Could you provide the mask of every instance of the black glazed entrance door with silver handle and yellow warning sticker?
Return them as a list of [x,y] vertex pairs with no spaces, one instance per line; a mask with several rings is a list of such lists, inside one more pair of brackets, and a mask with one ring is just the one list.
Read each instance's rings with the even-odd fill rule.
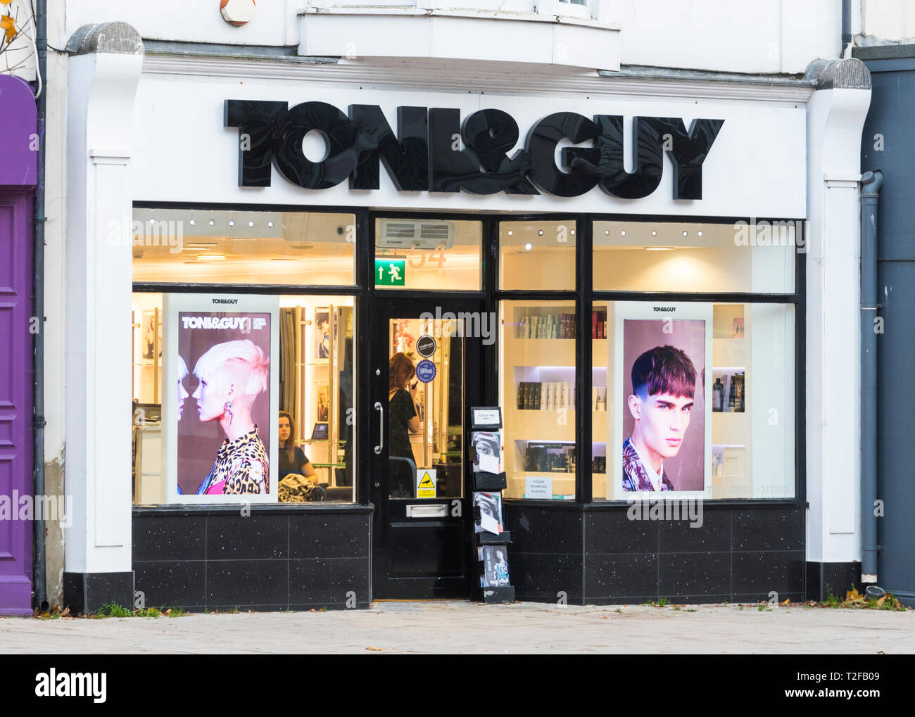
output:
[[376,598],[469,598],[467,429],[482,304],[376,297],[371,501]]

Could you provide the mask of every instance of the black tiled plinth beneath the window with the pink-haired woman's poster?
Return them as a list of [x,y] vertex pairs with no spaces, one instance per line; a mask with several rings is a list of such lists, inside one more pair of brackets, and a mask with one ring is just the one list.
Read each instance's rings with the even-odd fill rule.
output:
[[371,507],[134,511],[147,607],[308,610],[371,605]]

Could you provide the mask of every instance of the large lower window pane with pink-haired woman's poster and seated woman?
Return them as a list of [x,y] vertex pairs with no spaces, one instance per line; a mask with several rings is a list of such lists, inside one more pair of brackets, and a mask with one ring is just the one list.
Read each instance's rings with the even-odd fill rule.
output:
[[354,299],[133,294],[136,504],[352,502]]

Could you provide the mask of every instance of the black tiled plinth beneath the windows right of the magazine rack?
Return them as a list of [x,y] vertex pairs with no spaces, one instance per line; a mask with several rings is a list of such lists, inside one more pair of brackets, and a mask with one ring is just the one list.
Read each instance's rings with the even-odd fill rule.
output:
[[[705,501],[701,525],[632,519],[625,504],[569,508],[505,502],[518,599],[555,602],[563,589],[579,605],[783,602],[806,593],[800,506]],[[572,584],[579,587],[563,587]]]

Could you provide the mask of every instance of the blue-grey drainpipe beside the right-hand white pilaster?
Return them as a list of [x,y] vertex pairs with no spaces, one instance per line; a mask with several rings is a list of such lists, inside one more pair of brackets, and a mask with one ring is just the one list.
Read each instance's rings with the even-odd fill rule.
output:
[[877,205],[883,172],[861,177],[861,582],[877,583]]

